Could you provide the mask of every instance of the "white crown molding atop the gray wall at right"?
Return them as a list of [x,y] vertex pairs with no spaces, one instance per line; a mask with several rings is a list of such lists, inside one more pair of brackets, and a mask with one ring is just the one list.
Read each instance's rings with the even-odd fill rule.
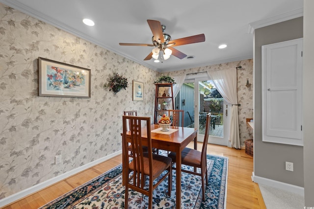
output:
[[265,27],[271,24],[276,24],[276,23],[281,23],[284,21],[288,21],[294,18],[299,18],[303,16],[303,7],[300,9],[295,9],[290,12],[286,12],[271,18],[267,18],[261,21],[256,21],[253,23],[249,23],[248,28],[247,28],[247,33],[253,34],[255,29]]

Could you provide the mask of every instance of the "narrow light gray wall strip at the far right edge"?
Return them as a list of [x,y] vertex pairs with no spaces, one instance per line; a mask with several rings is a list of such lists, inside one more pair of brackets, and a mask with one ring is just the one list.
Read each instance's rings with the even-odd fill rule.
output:
[[304,0],[304,57],[303,57],[303,139],[304,139],[304,199],[305,206],[314,206],[314,1]]

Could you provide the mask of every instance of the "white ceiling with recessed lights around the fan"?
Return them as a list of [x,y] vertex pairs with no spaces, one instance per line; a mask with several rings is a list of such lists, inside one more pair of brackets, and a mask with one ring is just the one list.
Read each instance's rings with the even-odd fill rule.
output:
[[[253,58],[253,31],[303,16],[303,0],[0,0],[0,2],[159,72]],[[95,26],[82,23],[92,19]],[[171,56],[143,61],[152,44],[147,20],[166,25],[172,40],[205,34],[205,42],[176,49],[194,59]],[[218,45],[227,44],[225,49]]]

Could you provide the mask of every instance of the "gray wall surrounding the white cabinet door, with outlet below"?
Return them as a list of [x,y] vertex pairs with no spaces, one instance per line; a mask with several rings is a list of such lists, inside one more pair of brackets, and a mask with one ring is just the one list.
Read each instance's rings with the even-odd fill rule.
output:
[[[303,17],[262,27],[254,35],[254,173],[256,176],[304,186],[303,147],[262,142],[262,45],[303,37]],[[292,162],[294,171],[285,170]]]

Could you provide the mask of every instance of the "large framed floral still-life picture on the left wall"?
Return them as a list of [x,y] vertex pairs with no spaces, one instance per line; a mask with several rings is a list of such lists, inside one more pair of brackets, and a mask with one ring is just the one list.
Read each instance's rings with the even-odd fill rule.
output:
[[90,98],[90,69],[38,57],[38,95]]

